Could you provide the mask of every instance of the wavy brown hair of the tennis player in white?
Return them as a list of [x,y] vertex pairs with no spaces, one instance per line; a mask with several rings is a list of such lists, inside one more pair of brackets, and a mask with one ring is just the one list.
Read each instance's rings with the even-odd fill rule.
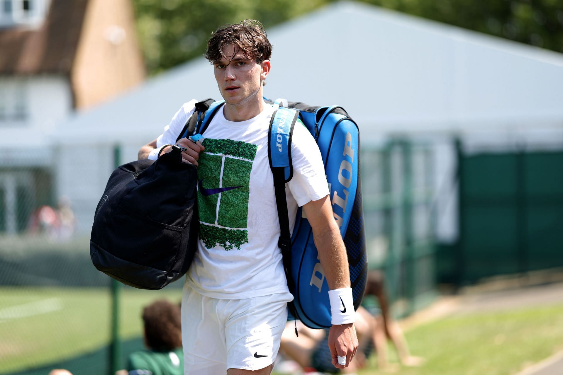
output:
[[223,49],[227,44],[235,46],[235,56],[239,51],[243,51],[244,56],[250,60],[256,60],[258,64],[264,60],[270,60],[272,55],[272,45],[267,38],[266,30],[259,21],[244,20],[239,24],[225,25],[213,32],[212,37],[207,42],[207,51],[204,57],[214,64],[225,57]]

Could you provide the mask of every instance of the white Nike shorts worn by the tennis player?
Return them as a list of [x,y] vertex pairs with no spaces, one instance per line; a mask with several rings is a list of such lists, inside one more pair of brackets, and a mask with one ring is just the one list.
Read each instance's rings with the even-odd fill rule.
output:
[[258,370],[274,363],[291,300],[291,293],[222,300],[202,296],[185,284],[184,374],[225,374],[229,368]]

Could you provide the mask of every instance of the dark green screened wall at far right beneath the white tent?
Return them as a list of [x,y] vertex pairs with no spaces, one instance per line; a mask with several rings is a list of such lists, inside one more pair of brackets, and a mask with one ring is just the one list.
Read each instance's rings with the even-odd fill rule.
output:
[[439,247],[439,281],[563,266],[563,152],[458,155],[459,241]]

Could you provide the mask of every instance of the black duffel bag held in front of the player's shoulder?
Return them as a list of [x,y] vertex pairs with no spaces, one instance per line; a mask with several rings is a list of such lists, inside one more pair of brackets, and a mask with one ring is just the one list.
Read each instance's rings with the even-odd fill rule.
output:
[[196,184],[196,166],[181,161],[177,146],[157,161],[115,169],[94,216],[92,263],[141,289],[162,289],[182,277],[197,249]]

